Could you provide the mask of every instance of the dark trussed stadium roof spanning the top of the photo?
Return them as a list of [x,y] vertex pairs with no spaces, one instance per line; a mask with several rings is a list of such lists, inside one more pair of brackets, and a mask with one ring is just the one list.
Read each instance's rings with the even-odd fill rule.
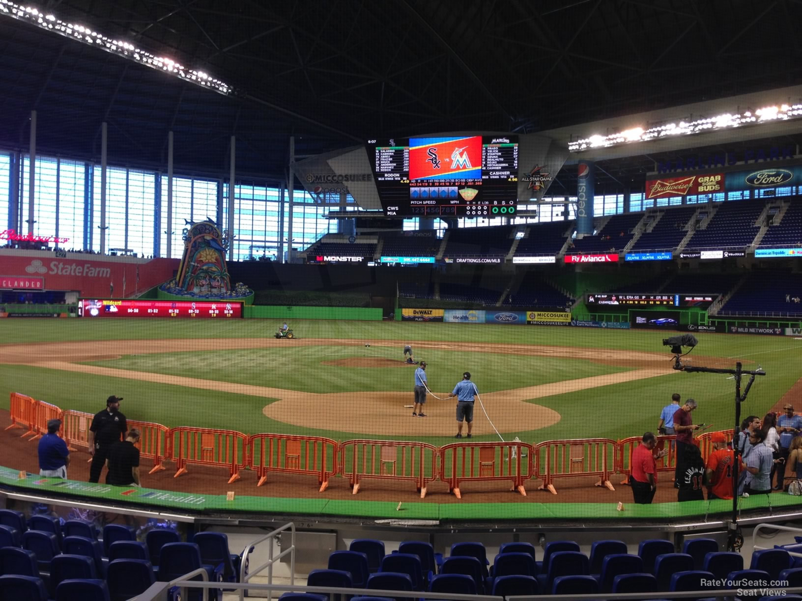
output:
[[[35,108],[40,152],[97,159],[106,120],[110,160],[163,166],[172,129],[184,171],[225,171],[232,134],[238,175],[277,178],[290,135],[310,155],[426,131],[533,133],[802,83],[799,0],[45,0],[38,8],[208,71],[237,93],[0,14],[0,145],[27,147]],[[602,161],[597,192],[638,185],[659,158]],[[569,177],[558,178],[557,193],[575,186]]]

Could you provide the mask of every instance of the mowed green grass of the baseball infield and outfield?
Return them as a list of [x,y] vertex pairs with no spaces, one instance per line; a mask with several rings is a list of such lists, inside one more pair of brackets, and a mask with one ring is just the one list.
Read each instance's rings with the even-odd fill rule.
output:
[[[269,337],[277,323],[262,320],[9,319],[2,321],[2,333],[5,340],[27,342],[186,339],[188,351],[185,353],[123,357],[117,361],[99,362],[97,365],[313,393],[410,390],[411,369],[320,365],[320,361],[366,355],[399,359],[401,349],[383,346],[383,340],[407,341],[413,348],[415,341],[563,345],[596,349],[600,357],[604,357],[608,349],[652,353],[667,350],[661,344],[666,333],[638,330],[361,321],[291,321],[290,325],[300,337],[370,341],[371,348],[293,346],[292,341],[286,341],[286,346],[282,345],[275,350],[222,352],[214,348],[198,349],[193,342],[201,338]],[[802,341],[795,341],[791,337],[725,334],[697,334],[697,337],[699,346],[691,353],[690,357],[695,359],[692,365],[704,365],[703,357],[710,356],[731,357],[734,366],[736,358],[740,357],[745,361],[745,369],[754,369],[759,363],[768,373],[755,382],[742,407],[743,416],[754,413],[762,417],[800,377]],[[124,352],[124,349],[120,350]],[[429,349],[417,349],[415,354],[417,358],[429,361],[429,381],[432,389],[438,391],[450,390],[460,379],[464,369],[474,374],[473,379],[483,392],[626,370],[590,361],[552,357]],[[665,357],[666,361],[669,360],[669,353]],[[350,434],[354,434],[273,422],[261,415],[261,407],[270,402],[263,397],[157,385],[126,378],[88,377],[51,369],[0,365],[0,406],[6,409],[8,393],[11,391],[54,402],[64,409],[90,412],[101,408],[103,399],[108,394],[115,393],[127,398],[123,409],[130,417],[163,423],[165,426],[213,426],[245,433],[280,431],[327,435],[339,439],[350,438]],[[505,438],[517,435],[524,441],[539,442],[560,438],[625,438],[640,435],[645,430],[656,428],[660,409],[667,404],[674,392],[682,394],[683,398],[695,397],[699,401],[699,409],[694,413],[695,422],[712,423],[715,430],[731,427],[735,393],[732,380],[727,380],[721,374],[676,373],[603,386],[581,393],[537,398],[532,402],[555,409],[561,414],[561,421],[541,430],[531,430],[526,423],[521,423],[520,431],[507,433]],[[136,416],[132,412],[134,406]],[[492,411],[492,408],[488,410]],[[476,439],[492,438],[488,435]],[[425,440],[442,444],[448,438],[431,437]]]

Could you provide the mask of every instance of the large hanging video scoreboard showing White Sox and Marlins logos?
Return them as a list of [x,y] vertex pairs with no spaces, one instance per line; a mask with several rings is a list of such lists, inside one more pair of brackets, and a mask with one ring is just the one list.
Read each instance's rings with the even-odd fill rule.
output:
[[518,204],[518,137],[367,141],[387,216],[500,217]]

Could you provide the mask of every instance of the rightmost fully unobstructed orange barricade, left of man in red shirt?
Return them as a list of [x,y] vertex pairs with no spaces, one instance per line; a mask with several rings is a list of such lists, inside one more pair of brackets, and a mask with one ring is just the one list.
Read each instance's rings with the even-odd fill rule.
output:
[[593,476],[596,486],[615,490],[610,474],[616,467],[618,443],[610,438],[577,438],[575,440],[545,441],[535,446],[535,478],[543,481],[537,490],[557,494],[554,480]]

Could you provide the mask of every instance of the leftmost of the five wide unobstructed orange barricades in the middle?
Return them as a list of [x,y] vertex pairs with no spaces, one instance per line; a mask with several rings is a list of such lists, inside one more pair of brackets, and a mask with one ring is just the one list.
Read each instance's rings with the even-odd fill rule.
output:
[[248,462],[248,437],[234,430],[212,430],[210,428],[173,428],[169,433],[172,458],[176,462],[176,474],[187,473],[187,464],[201,466],[226,466],[229,468],[229,484],[240,479],[240,470]]

